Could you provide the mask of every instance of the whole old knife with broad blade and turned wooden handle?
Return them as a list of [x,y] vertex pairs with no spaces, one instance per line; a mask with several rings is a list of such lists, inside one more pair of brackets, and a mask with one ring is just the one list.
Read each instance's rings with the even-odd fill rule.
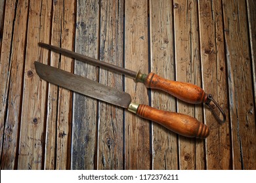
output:
[[35,70],[37,75],[47,82],[112,105],[127,108],[130,112],[147,120],[157,122],[179,135],[200,139],[205,139],[209,135],[209,127],[191,116],[134,103],[131,101],[129,93],[118,91],[88,78],[74,75],[73,73],[68,73],[67,71],[37,61],[35,61]]

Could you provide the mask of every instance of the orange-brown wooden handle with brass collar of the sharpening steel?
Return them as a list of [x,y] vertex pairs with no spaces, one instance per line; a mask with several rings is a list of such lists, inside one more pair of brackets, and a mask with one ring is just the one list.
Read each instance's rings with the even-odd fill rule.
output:
[[136,81],[143,82],[147,88],[163,90],[187,103],[198,104],[207,101],[207,93],[199,86],[186,82],[167,80],[155,73],[146,75],[139,71]]

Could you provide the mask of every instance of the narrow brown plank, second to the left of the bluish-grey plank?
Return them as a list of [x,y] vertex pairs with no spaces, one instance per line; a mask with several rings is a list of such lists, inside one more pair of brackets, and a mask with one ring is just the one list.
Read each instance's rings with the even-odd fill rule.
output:
[[[63,19],[63,3],[64,1],[54,1],[53,3],[53,18],[51,29],[51,44],[54,46],[61,45],[61,24]],[[48,50],[43,50],[48,52]],[[60,61],[60,54],[51,52],[50,65],[58,67]],[[45,169],[56,169],[56,127],[58,118],[58,86],[49,84],[48,99],[47,99],[47,126],[45,138]]]

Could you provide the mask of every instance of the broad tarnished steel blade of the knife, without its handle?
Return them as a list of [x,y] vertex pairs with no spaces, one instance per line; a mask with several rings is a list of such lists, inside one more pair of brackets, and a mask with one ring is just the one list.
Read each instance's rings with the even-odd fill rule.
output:
[[131,95],[125,92],[120,92],[114,88],[105,86],[88,78],[82,76],[74,75],[57,69],[56,67],[51,67],[43,63],[35,61],[35,70],[37,75],[43,80],[51,82],[95,99],[117,105],[119,107],[128,108],[131,103]]

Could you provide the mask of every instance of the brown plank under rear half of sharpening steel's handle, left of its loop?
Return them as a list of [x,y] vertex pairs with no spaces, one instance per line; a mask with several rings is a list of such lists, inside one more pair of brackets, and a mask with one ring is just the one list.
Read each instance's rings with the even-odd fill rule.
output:
[[[175,1],[175,63],[177,80],[201,86],[198,4],[196,1]],[[202,105],[178,100],[178,112],[203,122]],[[204,141],[179,136],[179,168],[205,169]]]

